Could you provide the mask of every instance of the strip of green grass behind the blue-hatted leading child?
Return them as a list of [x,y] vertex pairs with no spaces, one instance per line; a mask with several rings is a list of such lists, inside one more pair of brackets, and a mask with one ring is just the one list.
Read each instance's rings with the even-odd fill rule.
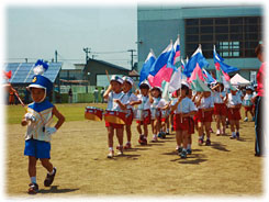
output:
[[[85,108],[87,105],[105,109],[107,104],[88,104],[88,103],[74,103],[74,104],[55,104],[58,111],[66,117],[66,122],[83,121]],[[25,114],[24,108],[21,105],[7,105],[4,106],[7,124],[20,124],[23,115]]]

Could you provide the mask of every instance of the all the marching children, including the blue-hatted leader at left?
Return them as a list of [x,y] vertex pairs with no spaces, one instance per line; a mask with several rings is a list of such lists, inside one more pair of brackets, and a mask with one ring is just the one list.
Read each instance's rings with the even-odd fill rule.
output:
[[[44,68],[47,68],[47,64],[37,60],[35,69]],[[29,176],[31,179],[29,193],[38,191],[36,182],[37,159],[47,170],[44,186],[49,187],[53,183],[56,168],[49,160],[51,138],[65,122],[64,115],[47,99],[47,96],[52,92],[53,83],[42,75],[43,72],[44,70],[36,71],[27,87],[33,102],[27,105],[27,111],[21,122],[22,126],[27,126],[24,155],[29,156]],[[147,145],[148,125],[152,126],[152,141],[157,142],[158,138],[165,138],[169,134],[171,123],[172,131],[176,131],[176,149],[181,158],[186,158],[188,154],[191,154],[191,134],[194,133],[194,128],[199,133],[199,145],[203,144],[204,135],[206,135],[205,145],[211,145],[210,135],[213,114],[216,120],[216,135],[225,134],[225,121],[228,117],[232,131],[231,138],[239,138],[242,98],[237,93],[237,89],[231,89],[231,93],[226,93],[223,85],[217,83],[210,91],[193,94],[189,83],[182,82],[181,88],[171,93],[170,100],[167,101],[161,98],[162,90],[159,87],[150,88],[148,82],[145,81],[139,85],[139,92],[133,93],[133,85],[134,81],[130,77],[112,76],[110,87],[103,94],[103,98],[108,101],[107,110],[126,113],[125,124],[105,122],[109,144],[108,158],[114,156],[114,132],[119,142],[116,147],[119,155],[123,155],[124,149],[132,148],[131,125],[134,119],[136,120],[136,128],[139,134],[138,143],[141,145]],[[246,113],[253,109],[251,93],[248,89],[243,103]],[[253,114],[253,112],[250,113]],[[51,127],[53,116],[56,116],[58,121]],[[125,146],[123,146],[124,128],[127,136]]]

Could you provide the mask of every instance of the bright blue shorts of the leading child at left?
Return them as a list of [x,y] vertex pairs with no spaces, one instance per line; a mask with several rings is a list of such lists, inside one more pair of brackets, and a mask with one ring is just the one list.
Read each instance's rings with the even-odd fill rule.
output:
[[33,156],[35,158],[51,158],[51,143],[37,139],[25,141],[24,148],[25,156]]

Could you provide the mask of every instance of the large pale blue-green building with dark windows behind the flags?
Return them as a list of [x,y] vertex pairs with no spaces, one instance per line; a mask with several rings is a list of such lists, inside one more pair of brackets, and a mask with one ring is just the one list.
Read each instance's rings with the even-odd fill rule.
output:
[[141,70],[149,49],[156,57],[180,34],[182,58],[190,57],[202,45],[203,55],[214,70],[213,45],[227,65],[238,67],[250,79],[260,63],[254,49],[262,38],[261,7],[144,7],[137,8],[137,49]]

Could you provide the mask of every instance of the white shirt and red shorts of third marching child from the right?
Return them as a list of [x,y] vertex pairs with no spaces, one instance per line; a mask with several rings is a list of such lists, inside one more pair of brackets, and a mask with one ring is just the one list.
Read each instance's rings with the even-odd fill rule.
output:
[[227,115],[227,106],[226,104],[223,102],[223,99],[221,98],[221,96],[223,98],[226,97],[226,92],[222,91],[222,92],[213,92],[213,98],[214,98],[214,114],[215,115],[221,115],[221,116],[226,116]]

